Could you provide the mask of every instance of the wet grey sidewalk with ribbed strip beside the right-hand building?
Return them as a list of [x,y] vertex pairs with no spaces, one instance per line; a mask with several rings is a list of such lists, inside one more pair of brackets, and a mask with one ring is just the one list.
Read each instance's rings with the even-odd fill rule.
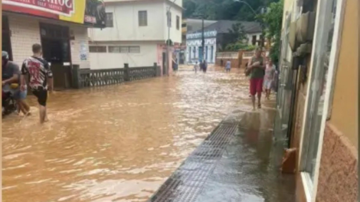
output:
[[279,170],[274,116],[233,110],[149,202],[295,202],[294,176]]

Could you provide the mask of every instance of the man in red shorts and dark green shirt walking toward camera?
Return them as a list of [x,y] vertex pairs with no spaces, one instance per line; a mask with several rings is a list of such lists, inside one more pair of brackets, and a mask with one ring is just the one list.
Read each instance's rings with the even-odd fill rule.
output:
[[253,110],[255,110],[255,95],[257,93],[258,103],[257,107],[261,108],[261,92],[262,92],[262,83],[264,81],[265,75],[265,60],[261,56],[261,49],[257,48],[255,51],[255,56],[249,59],[248,70],[250,72],[250,94]]

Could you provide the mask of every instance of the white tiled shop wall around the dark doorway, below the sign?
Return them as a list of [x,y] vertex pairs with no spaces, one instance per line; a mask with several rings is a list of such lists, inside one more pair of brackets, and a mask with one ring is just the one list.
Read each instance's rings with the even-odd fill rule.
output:
[[[87,28],[71,23],[63,23],[56,20],[45,20],[27,15],[6,14],[9,18],[9,26],[11,32],[11,46],[13,52],[13,60],[19,66],[23,60],[32,55],[31,47],[34,43],[41,43],[40,38],[40,22],[61,24],[68,26],[73,32],[75,40],[70,41],[72,64],[80,65],[80,68],[90,68],[90,55]],[[87,58],[80,59],[81,42],[85,43]]]

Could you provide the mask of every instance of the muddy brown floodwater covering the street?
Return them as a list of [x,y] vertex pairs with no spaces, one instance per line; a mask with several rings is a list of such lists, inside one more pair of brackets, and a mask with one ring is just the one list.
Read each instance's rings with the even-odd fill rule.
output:
[[3,200],[146,201],[235,106],[250,109],[243,70],[57,92],[49,123],[3,119]]

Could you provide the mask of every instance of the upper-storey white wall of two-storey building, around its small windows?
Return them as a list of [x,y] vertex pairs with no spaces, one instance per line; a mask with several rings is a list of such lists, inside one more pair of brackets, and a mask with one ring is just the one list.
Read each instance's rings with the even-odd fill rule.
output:
[[[167,40],[166,8],[163,0],[119,1],[107,3],[106,12],[113,13],[113,27],[89,29],[91,41],[165,41]],[[147,11],[147,26],[139,26],[138,12]],[[172,27],[170,39],[181,43],[181,9],[171,8]],[[180,27],[176,29],[176,15],[180,17]]]

